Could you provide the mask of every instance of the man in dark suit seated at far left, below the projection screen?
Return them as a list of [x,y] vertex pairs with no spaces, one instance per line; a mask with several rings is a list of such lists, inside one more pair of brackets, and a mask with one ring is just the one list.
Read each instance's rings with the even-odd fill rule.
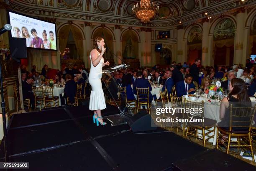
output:
[[29,99],[31,109],[33,110],[35,108],[35,96],[32,90],[32,83],[34,80],[31,77],[26,77],[25,82],[22,84],[22,94],[23,94],[23,100]]

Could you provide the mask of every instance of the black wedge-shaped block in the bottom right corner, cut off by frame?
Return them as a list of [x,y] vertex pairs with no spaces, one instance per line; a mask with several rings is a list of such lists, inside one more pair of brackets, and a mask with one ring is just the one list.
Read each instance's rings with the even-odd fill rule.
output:
[[255,171],[255,166],[220,150],[206,150],[163,171]]

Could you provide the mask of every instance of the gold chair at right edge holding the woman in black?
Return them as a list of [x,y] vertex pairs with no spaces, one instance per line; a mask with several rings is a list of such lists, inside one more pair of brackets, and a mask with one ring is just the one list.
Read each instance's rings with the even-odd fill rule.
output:
[[[227,145],[227,154],[229,153],[230,147],[249,147],[251,150],[251,156],[253,162],[255,162],[253,147],[252,147],[252,123],[253,117],[256,113],[256,106],[254,107],[233,107],[233,104],[230,104],[230,120],[229,127],[219,127],[217,125],[217,145],[218,149],[219,140],[223,139],[223,143],[228,143]],[[228,140],[224,138],[228,136]],[[231,141],[231,137],[237,138],[237,141]],[[248,144],[245,144],[246,141],[241,141],[241,138],[247,139]],[[236,143],[231,145],[231,143]],[[243,144],[241,144],[243,143]]]

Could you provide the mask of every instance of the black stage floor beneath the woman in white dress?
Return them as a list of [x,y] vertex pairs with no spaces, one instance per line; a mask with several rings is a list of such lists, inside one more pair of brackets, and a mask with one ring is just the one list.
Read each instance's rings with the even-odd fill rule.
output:
[[[111,105],[102,111],[103,116],[116,113]],[[97,127],[86,106],[16,114],[8,128],[10,162],[29,162],[26,171],[160,171],[207,151],[161,128],[143,133],[129,129],[109,122]]]

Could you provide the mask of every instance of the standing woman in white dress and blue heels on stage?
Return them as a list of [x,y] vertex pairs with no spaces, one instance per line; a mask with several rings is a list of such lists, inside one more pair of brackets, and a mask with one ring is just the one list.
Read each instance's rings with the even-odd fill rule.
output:
[[92,86],[89,109],[94,111],[93,122],[105,125],[101,116],[101,110],[106,108],[105,96],[102,90],[101,77],[102,67],[109,65],[109,62],[104,63],[103,54],[106,51],[105,43],[102,37],[94,39],[94,49],[90,52],[91,69],[89,74],[89,83]]

